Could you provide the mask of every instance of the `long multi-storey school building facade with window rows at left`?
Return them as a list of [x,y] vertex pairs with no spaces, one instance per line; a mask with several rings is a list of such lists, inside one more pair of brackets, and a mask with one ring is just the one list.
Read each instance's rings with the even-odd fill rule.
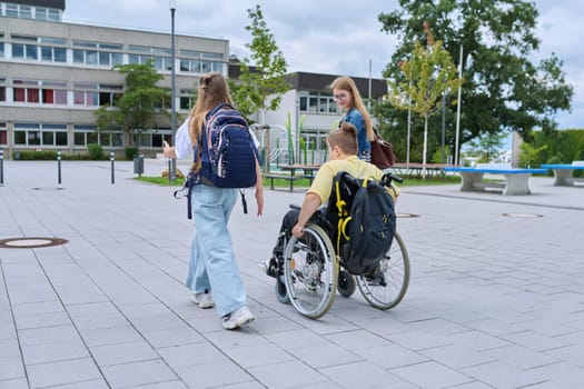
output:
[[[143,63],[154,58],[164,76],[159,86],[170,88],[170,33],[27,19],[20,13],[13,17],[8,4],[0,8],[0,147],[4,153],[11,157],[14,151],[31,149],[79,153],[93,140],[105,151],[123,153],[127,143],[121,131],[98,134],[93,111],[123,93],[125,76],[112,70],[117,63]],[[18,11],[30,8],[32,16],[38,7],[30,1],[10,3],[14,4]],[[227,73],[229,42],[179,34],[175,40],[175,99],[180,124],[198,77],[209,70]],[[170,138],[170,120],[160,117],[158,128],[149,132],[152,134],[145,136],[139,146],[154,153],[162,139]]]

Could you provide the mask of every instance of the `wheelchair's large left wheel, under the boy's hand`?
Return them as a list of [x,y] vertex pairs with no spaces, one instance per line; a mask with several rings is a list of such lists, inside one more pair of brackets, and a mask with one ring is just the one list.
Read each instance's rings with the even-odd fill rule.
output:
[[307,225],[284,251],[284,283],[291,305],[311,319],[324,316],[337,290],[338,260],[325,230]]

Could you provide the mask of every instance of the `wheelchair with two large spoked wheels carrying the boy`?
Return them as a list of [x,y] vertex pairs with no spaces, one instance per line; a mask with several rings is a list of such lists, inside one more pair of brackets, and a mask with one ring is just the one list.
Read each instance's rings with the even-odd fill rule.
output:
[[[403,181],[400,177],[387,173],[380,182],[389,187],[392,180]],[[409,285],[409,257],[404,240],[395,231],[389,250],[377,266],[357,273],[349,272],[346,258],[336,252],[338,250],[335,250],[334,245],[340,233],[336,228],[336,193],[334,190],[328,206],[315,212],[300,238],[289,236],[285,239],[284,253],[273,272],[278,301],[291,303],[299,313],[318,319],[333,306],[337,290],[340,296],[348,298],[358,288],[370,306],[382,310],[396,307],[404,299]],[[353,194],[350,186],[342,186],[340,197],[348,209]],[[290,208],[299,209],[297,206]]]

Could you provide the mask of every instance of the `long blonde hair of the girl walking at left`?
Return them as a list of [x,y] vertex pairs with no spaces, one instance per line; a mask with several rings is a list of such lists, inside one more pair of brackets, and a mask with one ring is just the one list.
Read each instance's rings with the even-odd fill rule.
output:
[[[199,96],[195,107],[190,110],[190,126],[189,136],[192,144],[199,144],[201,139],[201,130],[205,123],[207,112],[220,103],[234,104],[231,96],[229,94],[229,86],[225,77],[218,71],[211,71],[204,74],[199,80]],[[200,169],[200,147],[199,158],[195,159],[191,170]]]

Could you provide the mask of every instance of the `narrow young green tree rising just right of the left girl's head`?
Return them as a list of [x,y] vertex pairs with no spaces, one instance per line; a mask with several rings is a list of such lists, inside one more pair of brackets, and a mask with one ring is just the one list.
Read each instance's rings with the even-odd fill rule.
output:
[[240,63],[240,82],[231,84],[231,94],[241,113],[247,117],[259,111],[259,120],[264,123],[265,110],[276,110],[290,86],[284,78],[286,60],[264,20],[260,7],[248,9],[247,13],[251,21],[246,26],[253,37],[251,43],[246,44],[250,58],[245,58]]

